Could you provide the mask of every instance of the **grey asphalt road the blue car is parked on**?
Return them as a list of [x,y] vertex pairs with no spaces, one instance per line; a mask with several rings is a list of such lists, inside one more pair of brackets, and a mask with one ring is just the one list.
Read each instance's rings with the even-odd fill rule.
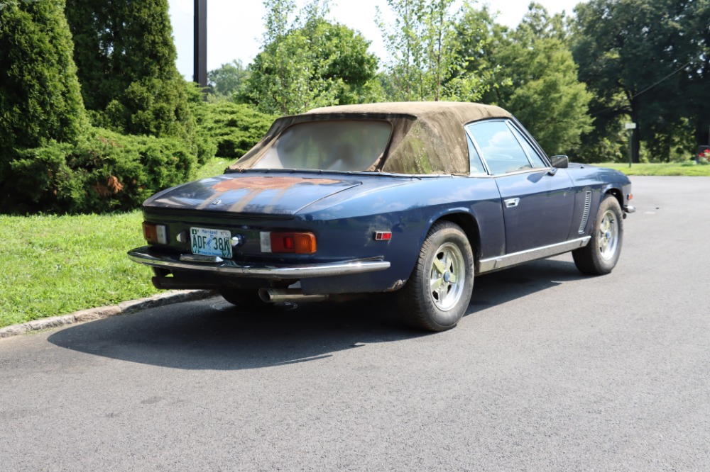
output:
[[710,179],[633,184],[612,274],[481,276],[449,332],[212,298],[0,339],[0,471],[710,471]]

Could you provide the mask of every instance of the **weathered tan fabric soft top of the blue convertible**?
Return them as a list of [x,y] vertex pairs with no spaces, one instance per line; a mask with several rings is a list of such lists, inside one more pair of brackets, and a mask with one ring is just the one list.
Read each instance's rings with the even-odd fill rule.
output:
[[386,150],[368,171],[395,174],[469,173],[464,125],[485,118],[506,118],[498,106],[459,102],[366,103],[315,108],[275,120],[266,136],[229,169],[248,169],[258,162],[275,138],[295,123],[319,120],[386,120],[392,135]]

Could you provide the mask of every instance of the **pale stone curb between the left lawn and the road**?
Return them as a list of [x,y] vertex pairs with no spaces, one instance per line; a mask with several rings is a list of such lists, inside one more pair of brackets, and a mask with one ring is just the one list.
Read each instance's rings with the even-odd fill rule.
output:
[[75,311],[69,315],[53,316],[51,318],[28,321],[19,325],[6,326],[4,328],[0,328],[0,339],[23,335],[26,332],[47,330],[49,328],[74,325],[75,323],[86,321],[101,320],[102,318],[109,318],[109,316],[146,310],[146,308],[173,305],[174,303],[182,303],[186,301],[203,300],[204,298],[216,295],[217,292],[212,290],[181,290],[158,293],[158,295],[147,298],[138,298],[138,300],[129,300],[119,303],[118,305],[89,308],[87,310]]

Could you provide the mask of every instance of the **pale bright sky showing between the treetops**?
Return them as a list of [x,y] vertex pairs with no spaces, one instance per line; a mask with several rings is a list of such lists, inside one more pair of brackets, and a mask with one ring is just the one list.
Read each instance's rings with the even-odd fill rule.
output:
[[[581,0],[537,0],[550,13],[572,13]],[[168,0],[170,21],[173,24],[175,47],[178,49],[178,70],[192,79],[192,16],[194,0]],[[307,3],[296,0],[297,6]],[[488,2],[499,12],[497,21],[515,28],[528,11],[530,0],[503,0]],[[370,51],[382,60],[387,52],[382,35],[375,23],[376,7],[383,18],[391,19],[386,0],[332,0],[328,18],[358,30],[371,41]],[[207,70],[239,59],[249,64],[261,50],[263,17],[266,11],[260,0],[210,0],[207,2]]]

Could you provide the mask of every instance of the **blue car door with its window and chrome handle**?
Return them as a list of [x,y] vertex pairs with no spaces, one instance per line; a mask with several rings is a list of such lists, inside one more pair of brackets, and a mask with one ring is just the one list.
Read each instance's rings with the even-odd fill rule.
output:
[[552,169],[512,120],[470,123],[466,131],[501,194],[506,254],[566,241],[574,188],[565,169]]

